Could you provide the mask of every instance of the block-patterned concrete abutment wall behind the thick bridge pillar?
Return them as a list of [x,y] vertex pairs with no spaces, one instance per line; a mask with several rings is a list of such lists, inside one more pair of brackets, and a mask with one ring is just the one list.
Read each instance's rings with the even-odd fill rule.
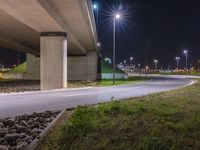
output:
[[[40,58],[27,54],[27,73],[24,79],[40,79]],[[68,56],[67,79],[69,81],[94,81],[97,79],[97,53],[88,52],[86,56]]]

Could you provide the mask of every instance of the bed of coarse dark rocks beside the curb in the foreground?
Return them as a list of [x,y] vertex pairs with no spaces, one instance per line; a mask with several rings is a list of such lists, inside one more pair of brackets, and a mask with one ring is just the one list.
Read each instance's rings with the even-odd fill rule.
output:
[[26,150],[60,111],[0,119],[0,150]]

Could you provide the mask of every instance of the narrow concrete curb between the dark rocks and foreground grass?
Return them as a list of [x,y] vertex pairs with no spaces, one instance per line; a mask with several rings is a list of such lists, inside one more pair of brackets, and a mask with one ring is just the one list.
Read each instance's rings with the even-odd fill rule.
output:
[[35,138],[28,146],[28,150],[35,150],[38,146],[39,139],[45,137],[47,133],[53,128],[56,122],[64,115],[66,109],[63,109],[58,116],[40,133],[38,138]]

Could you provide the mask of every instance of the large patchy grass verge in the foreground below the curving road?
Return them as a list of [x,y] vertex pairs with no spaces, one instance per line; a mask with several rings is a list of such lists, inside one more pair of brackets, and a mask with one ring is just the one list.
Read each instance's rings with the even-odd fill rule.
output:
[[200,82],[179,90],[78,107],[43,150],[200,149]]

